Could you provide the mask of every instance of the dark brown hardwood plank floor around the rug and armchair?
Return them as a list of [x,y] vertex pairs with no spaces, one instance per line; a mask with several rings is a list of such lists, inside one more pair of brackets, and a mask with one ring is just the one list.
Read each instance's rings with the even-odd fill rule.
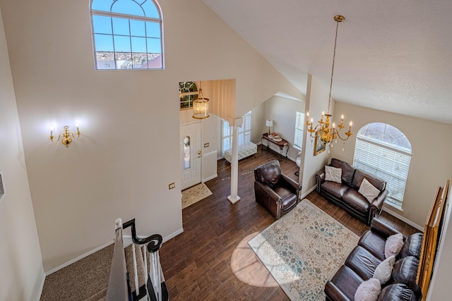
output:
[[[278,159],[258,147],[258,153],[239,162],[238,195],[231,204],[230,164],[218,161],[218,178],[206,183],[213,192],[182,211],[184,233],[165,242],[160,262],[171,300],[289,300],[259,262],[247,242],[275,221],[254,199],[254,168]],[[283,173],[295,176],[297,165],[280,160]],[[369,227],[316,192],[307,195],[317,207],[357,235]],[[415,228],[383,212],[380,219],[405,235]]]

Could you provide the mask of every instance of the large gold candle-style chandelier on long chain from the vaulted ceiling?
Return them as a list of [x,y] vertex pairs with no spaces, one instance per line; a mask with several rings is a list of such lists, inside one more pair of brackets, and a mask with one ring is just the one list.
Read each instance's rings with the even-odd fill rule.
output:
[[[312,127],[312,123],[314,122],[314,118],[311,118],[311,121],[309,122],[309,112],[306,113],[307,121],[304,123],[307,125],[307,130],[309,132],[309,135],[311,138],[316,137],[316,139],[321,140],[324,145],[331,145],[331,142],[336,141],[337,138],[340,140],[348,140],[352,134],[352,121],[350,121],[350,125],[348,127],[348,131],[345,132],[346,137],[340,137],[340,130],[345,128],[343,125],[344,122],[344,116],[340,117],[340,124],[337,126],[335,123],[331,124],[330,118],[332,117],[330,113],[330,104],[331,104],[331,88],[333,87],[333,73],[334,73],[334,61],[335,61],[335,55],[336,55],[336,42],[338,41],[338,27],[339,23],[343,22],[345,18],[343,16],[335,16],[334,20],[336,21],[336,35],[334,39],[334,51],[333,51],[333,66],[331,67],[331,80],[330,80],[330,95],[328,98],[328,111],[325,113],[325,111],[322,112],[322,117],[320,121],[318,121],[318,125],[316,125],[315,128]],[[325,121],[323,121],[323,118],[326,118]]]

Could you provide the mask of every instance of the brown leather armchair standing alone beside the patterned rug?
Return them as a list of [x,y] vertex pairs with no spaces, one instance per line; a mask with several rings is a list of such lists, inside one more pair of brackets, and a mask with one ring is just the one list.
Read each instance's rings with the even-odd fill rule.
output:
[[254,169],[254,195],[256,202],[279,219],[298,204],[302,185],[281,173],[278,160]]

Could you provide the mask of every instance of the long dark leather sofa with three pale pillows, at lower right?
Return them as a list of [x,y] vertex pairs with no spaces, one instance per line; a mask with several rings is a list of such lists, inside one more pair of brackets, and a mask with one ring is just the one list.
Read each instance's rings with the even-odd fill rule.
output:
[[[372,278],[376,266],[384,259],[386,239],[399,233],[379,219],[373,219],[370,230],[359,239],[357,247],[325,285],[326,300],[354,300],[358,286]],[[415,301],[422,293],[416,283],[417,268],[422,250],[422,233],[404,237],[402,250],[396,257],[391,278],[381,285],[378,300]]]

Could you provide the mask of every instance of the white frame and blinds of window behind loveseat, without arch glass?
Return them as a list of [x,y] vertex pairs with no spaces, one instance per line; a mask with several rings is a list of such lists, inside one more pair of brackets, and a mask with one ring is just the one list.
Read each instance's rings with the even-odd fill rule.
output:
[[[362,130],[367,126],[364,125],[357,134],[353,165],[362,171],[385,180],[386,189],[389,191],[385,201],[386,204],[402,211],[403,197],[405,195],[405,186],[412,156],[411,146],[410,149],[406,149],[388,142],[383,142],[374,137],[366,137],[362,135]],[[392,125],[386,124],[387,126],[396,129]],[[386,133],[386,127],[385,132],[381,133],[381,135],[388,135]],[[400,130],[398,131],[403,135]],[[405,137],[405,135],[403,136]],[[406,139],[408,141],[408,138]]]

